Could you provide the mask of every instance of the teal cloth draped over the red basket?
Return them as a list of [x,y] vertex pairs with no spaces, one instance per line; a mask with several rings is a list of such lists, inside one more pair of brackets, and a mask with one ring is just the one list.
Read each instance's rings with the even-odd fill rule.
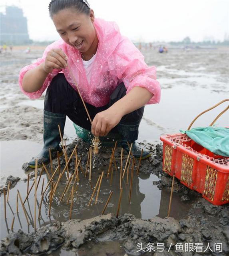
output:
[[229,128],[209,126],[180,132],[217,155],[229,156]]

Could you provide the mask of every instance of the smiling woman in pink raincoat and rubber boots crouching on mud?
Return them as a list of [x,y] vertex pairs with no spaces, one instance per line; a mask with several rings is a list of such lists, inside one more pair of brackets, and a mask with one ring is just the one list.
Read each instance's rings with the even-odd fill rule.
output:
[[[49,13],[61,39],[50,44],[42,58],[20,71],[22,92],[44,100],[44,147],[38,165],[50,162],[60,148],[66,116],[94,136],[121,135],[121,146],[141,155],[135,142],[145,104],[160,101],[156,69],[144,62],[134,44],[123,37],[115,22],[95,18],[86,0],[52,0]],[[74,83],[76,79],[92,124]],[[142,158],[151,155],[143,150]],[[29,162],[35,167],[35,158]]]

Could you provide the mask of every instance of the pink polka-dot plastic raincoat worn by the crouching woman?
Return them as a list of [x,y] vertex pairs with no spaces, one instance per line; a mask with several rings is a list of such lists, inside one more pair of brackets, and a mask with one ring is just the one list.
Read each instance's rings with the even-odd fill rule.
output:
[[[156,80],[156,68],[154,66],[148,67],[145,64],[141,52],[129,39],[121,36],[117,24],[97,18],[94,26],[99,45],[93,62],[90,82],[86,78],[80,52],[61,39],[47,46],[42,58],[39,58],[34,64],[22,68],[19,76],[22,92],[31,99],[39,98],[42,95],[47,86],[50,85],[52,78],[61,70],[54,69],[52,73],[48,74],[42,88],[36,92],[25,92],[23,90],[22,79],[24,74],[44,62],[50,50],[61,48],[68,56],[68,67],[71,68],[82,97],[87,103],[95,107],[108,104],[110,95],[121,82],[124,82],[127,93],[135,86],[146,88],[153,93],[153,97],[148,104],[159,103],[161,89],[159,82]],[[67,81],[77,91],[68,67],[62,69],[62,72]]]

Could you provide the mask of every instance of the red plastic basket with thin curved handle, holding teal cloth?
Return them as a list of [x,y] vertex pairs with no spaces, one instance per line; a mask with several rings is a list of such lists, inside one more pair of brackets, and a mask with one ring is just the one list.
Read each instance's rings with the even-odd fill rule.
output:
[[[223,100],[219,104],[228,101]],[[209,110],[218,106],[213,106]],[[229,106],[221,112],[213,123]],[[207,112],[202,112],[201,114]],[[201,116],[199,114],[199,116]],[[197,119],[195,118],[193,122]],[[188,130],[190,129],[190,124]],[[210,125],[210,126],[211,126]],[[186,134],[162,135],[163,171],[175,175],[182,184],[201,193],[203,198],[215,205],[229,202],[229,158],[215,155],[200,146]]]

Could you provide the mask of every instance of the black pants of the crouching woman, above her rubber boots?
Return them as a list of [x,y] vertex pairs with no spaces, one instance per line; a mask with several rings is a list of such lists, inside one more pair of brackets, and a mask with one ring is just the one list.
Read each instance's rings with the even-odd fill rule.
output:
[[[91,104],[85,102],[91,119],[101,111],[108,109],[115,102],[126,95],[126,88],[123,83],[119,84],[114,92],[110,96],[110,100],[107,105],[102,107],[94,107]],[[91,130],[91,123],[88,119],[88,115],[82,103],[82,100],[72,88],[72,86],[66,80],[64,74],[58,74],[52,79],[50,86],[47,88],[47,92],[44,100],[44,110],[52,113],[66,114],[72,122],[87,130]],[[144,107],[141,107],[121,118],[120,124],[134,124],[140,123],[143,116]],[[117,133],[117,126],[115,126],[111,132]]]

